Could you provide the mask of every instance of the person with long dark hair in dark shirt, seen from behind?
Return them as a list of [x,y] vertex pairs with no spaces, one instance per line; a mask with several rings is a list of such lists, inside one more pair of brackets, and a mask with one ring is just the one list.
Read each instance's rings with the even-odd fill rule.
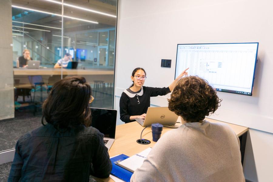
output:
[[[8,181],[89,181],[109,177],[103,134],[90,126],[91,87],[81,76],[62,79],[43,103],[41,126],[21,136]],[[90,126],[90,127],[89,127]]]

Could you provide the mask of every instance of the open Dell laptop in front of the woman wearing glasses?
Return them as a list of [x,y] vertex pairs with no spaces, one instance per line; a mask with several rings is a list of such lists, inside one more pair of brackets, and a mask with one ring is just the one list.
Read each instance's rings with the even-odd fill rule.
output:
[[174,125],[178,116],[170,111],[168,107],[148,107],[145,120],[136,118],[141,126],[151,126],[153,123],[162,125]]

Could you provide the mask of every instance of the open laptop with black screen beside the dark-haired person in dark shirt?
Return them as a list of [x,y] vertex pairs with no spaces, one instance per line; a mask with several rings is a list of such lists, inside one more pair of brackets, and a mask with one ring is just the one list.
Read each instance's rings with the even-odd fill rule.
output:
[[91,126],[98,129],[100,133],[104,134],[104,144],[109,151],[115,140],[117,111],[93,107],[90,107],[90,109],[92,116]]

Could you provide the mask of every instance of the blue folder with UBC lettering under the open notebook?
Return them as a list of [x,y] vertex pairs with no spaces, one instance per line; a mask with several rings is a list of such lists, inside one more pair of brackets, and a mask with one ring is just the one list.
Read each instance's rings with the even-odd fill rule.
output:
[[120,154],[116,157],[110,158],[110,160],[112,162],[111,174],[115,177],[120,178],[123,181],[130,182],[130,178],[133,175],[133,173],[116,165],[116,163],[119,163],[120,161],[125,160],[127,158],[129,158],[129,156],[126,156],[124,154]]

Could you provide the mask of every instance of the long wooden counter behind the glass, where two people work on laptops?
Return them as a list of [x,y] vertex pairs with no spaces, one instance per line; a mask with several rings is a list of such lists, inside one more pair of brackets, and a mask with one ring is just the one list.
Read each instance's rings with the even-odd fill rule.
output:
[[[14,75],[61,75],[60,68],[14,68]],[[114,75],[113,69],[62,69],[63,75]]]

